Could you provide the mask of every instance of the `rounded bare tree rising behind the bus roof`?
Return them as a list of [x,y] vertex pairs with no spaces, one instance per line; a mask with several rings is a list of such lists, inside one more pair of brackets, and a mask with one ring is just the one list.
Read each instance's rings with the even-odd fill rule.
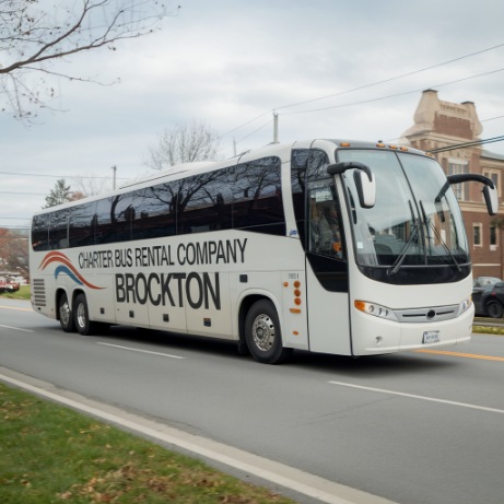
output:
[[216,130],[192,119],[166,129],[155,144],[149,145],[145,164],[152,169],[165,169],[179,163],[213,160],[218,146]]

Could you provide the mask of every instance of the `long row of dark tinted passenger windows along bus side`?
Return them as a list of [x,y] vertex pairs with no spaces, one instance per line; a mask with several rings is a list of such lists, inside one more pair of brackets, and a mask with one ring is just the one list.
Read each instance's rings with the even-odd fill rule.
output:
[[[120,194],[34,218],[33,247],[54,248],[243,228],[285,234],[278,157]],[[65,212],[60,213],[60,212]]]

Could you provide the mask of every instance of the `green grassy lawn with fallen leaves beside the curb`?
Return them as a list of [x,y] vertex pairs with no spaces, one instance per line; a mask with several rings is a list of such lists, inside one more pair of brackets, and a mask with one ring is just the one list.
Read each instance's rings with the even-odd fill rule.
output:
[[0,502],[293,503],[1,383]]

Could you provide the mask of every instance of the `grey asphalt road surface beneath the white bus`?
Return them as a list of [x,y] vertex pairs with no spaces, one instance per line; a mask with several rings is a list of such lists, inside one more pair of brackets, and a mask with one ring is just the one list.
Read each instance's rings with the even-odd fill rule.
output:
[[401,504],[502,504],[504,337],[280,366],[228,343],[68,335],[0,298],[0,366]]

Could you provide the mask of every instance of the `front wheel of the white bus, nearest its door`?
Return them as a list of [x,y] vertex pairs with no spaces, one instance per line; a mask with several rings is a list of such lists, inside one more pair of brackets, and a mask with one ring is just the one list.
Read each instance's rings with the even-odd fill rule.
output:
[[255,361],[262,364],[280,364],[292,353],[282,345],[280,321],[270,301],[254,303],[245,318],[245,341]]

